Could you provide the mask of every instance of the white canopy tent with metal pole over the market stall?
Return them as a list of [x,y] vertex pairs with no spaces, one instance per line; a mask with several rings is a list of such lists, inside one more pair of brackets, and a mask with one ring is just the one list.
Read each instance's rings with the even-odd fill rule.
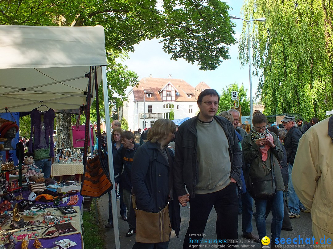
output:
[[[104,105],[109,106],[102,26],[0,25],[0,54],[0,113],[6,107],[11,112],[30,112],[42,104],[58,112],[75,112],[86,104],[90,66],[97,66],[98,83],[103,81]],[[110,124],[109,108],[105,108],[105,122]],[[110,125],[106,125],[106,133],[111,135]],[[112,149],[108,160],[109,170],[114,172]],[[113,174],[110,178],[114,183]],[[116,203],[114,189],[112,202]],[[116,248],[120,248],[116,205],[113,216]]]

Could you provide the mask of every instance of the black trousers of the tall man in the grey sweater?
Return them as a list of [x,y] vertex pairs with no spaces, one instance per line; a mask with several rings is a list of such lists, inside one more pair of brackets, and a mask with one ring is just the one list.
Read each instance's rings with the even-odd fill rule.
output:
[[[236,244],[234,243],[234,240],[238,239],[238,197],[236,194],[236,183],[231,182],[224,189],[214,193],[195,194],[195,198],[190,197],[189,206],[189,223],[184,238],[183,249],[188,249],[189,245],[200,244],[199,242],[205,230],[209,213],[213,207],[217,213],[217,239],[232,240],[231,242],[224,243],[224,245]],[[193,234],[199,236],[193,236]],[[194,243],[194,240],[198,242]]]

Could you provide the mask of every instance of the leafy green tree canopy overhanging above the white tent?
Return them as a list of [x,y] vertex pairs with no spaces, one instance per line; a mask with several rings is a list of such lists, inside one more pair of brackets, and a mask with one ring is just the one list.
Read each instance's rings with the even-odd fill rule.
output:
[[229,58],[234,24],[219,0],[26,0],[1,1],[0,24],[95,26],[105,28],[108,57],[133,51],[140,41],[158,38],[172,59],[198,62],[213,70]]

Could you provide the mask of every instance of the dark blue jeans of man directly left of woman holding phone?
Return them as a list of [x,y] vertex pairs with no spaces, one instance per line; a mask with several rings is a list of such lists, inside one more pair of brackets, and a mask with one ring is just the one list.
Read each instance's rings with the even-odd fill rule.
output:
[[253,199],[249,192],[246,191],[244,194],[240,194],[242,200],[242,230],[243,234],[247,235],[252,232],[252,202]]

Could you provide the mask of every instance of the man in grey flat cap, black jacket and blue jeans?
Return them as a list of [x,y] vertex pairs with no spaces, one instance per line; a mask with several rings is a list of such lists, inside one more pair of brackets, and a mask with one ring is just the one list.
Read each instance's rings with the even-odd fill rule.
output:
[[291,180],[292,167],[294,165],[295,155],[297,151],[298,141],[302,136],[302,132],[295,127],[295,117],[285,116],[282,120],[283,127],[287,130],[287,134],[284,137],[284,148],[287,153],[288,162],[288,207],[289,207],[289,218],[299,218],[300,211],[307,211],[302,203],[299,201],[294,186]]

